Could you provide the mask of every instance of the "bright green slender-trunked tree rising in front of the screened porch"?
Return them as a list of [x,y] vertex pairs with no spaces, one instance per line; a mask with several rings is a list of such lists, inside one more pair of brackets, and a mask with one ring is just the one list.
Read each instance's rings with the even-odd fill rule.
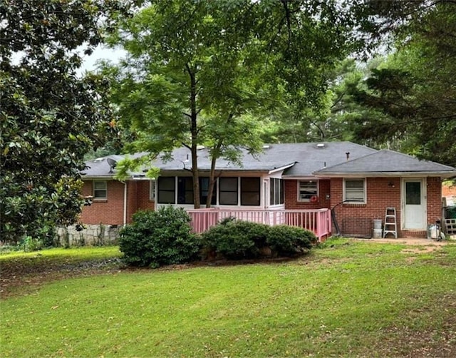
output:
[[137,136],[128,150],[190,148],[198,207],[198,145],[209,145],[213,179],[217,158],[261,148],[255,118],[284,103],[319,106],[325,69],[348,53],[343,10],[337,1],[152,1],[111,38],[128,51],[123,64],[104,68]]

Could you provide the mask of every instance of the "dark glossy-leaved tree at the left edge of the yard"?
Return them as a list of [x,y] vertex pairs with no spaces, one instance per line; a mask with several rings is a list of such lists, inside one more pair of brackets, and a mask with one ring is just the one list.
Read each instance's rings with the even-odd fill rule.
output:
[[79,170],[99,123],[104,81],[81,77],[90,54],[128,9],[120,1],[0,2],[1,238],[44,237],[81,210]]

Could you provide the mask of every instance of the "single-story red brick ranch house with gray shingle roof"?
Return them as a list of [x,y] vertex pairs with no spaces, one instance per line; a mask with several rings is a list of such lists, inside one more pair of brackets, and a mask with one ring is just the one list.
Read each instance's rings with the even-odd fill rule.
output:
[[[190,150],[178,148],[172,160],[155,160],[152,165],[160,168],[156,180],[144,173],[115,180],[115,161],[121,158],[86,162],[83,195],[93,196],[93,203],[83,208],[81,223],[118,227],[130,223],[137,210],[177,205],[192,214],[194,229],[201,215],[212,220],[204,224],[207,228],[222,213],[271,224],[294,220],[291,225],[325,213],[329,232],[319,236],[338,228],[342,235],[372,237],[374,220],[383,221],[386,208],[395,208],[398,237],[426,237],[427,225],[442,216],[442,179],[456,176],[447,165],[350,142],[271,144],[257,156],[243,153],[241,167],[219,159],[212,209],[192,210]],[[204,204],[210,168],[206,148],[199,149],[198,165]]]

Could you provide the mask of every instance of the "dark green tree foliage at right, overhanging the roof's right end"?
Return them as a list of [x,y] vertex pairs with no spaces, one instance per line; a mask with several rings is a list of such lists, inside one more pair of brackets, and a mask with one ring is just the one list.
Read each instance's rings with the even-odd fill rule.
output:
[[455,166],[456,3],[384,3],[378,19],[396,35],[395,53],[352,88],[358,103],[382,116],[358,118],[354,138],[400,140],[409,153]]

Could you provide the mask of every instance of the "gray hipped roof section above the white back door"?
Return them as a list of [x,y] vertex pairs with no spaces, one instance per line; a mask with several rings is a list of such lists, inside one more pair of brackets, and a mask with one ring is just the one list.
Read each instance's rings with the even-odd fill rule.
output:
[[456,175],[455,168],[428,160],[419,160],[411,155],[393,150],[375,153],[348,160],[332,167],[316,170],[315,175],[398,175],[398,174]]

